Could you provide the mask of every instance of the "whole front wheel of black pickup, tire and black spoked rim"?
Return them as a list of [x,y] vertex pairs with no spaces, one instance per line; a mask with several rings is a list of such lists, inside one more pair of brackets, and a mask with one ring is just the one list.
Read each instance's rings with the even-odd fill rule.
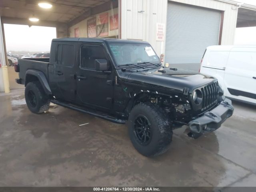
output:
[[172,127],[164,111],[156,104],[140,103],[130,112],[129,135],[132,144],[144,156],[166,152],[172,142]]

